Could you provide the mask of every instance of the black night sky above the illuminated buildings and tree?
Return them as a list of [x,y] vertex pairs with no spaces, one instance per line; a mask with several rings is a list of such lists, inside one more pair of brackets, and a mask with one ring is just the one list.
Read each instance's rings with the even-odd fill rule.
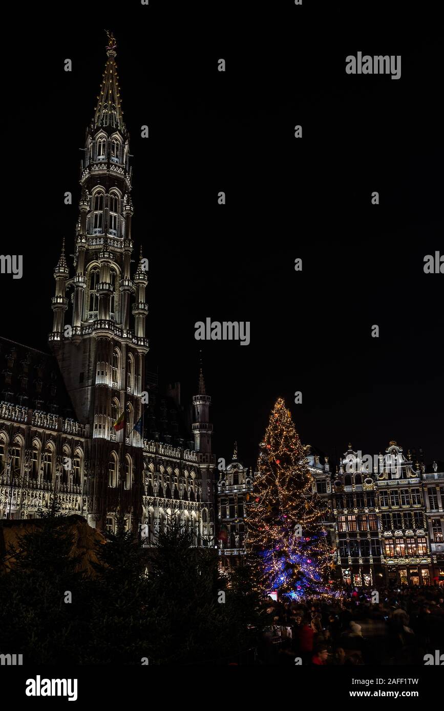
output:
[[[249,346],[203,343],[217,456],[237,439],[254,464],[282,396],[303,441],[331,456],[396,439],[443,460],[444,276],[423,272],[424,255],[444,252],[438,41],[402,16],[405,4],[393,21],[374,3],[363,16],[333,3],[321,16],[308,3],[208,5],[132,2],[122,19],[123,4],[80,2],[60,6],[57,31],[49,16],[13,31],[9,149],[22,188],[4,206],[24,271],[0,277],[1,334],[46,348],[110,28],[134,154],[133,238],[149,258],[148,367],[180,380],[186,399],[195,321],[250,321]],[[358,51],[401,55],[401,79],[347,75]]]

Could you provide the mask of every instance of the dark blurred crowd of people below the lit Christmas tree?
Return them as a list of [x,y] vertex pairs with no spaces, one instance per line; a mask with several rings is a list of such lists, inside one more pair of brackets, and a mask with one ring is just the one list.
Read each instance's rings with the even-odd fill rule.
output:
[[[424,664],[444,647],[444,587],[346,587],[339,597],[267,606],[262,663]],[[377,601],[377,602],[376,602]]]

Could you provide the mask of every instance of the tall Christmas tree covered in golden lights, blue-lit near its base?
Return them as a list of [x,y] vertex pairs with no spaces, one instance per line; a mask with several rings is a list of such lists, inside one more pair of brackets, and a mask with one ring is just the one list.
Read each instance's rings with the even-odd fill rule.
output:
[[264,592],[290,599],[328,594],[331,553],[312,491],[304,448],[285,402],[277,400],[260,444],[258,474],[248,506],[246,548]]

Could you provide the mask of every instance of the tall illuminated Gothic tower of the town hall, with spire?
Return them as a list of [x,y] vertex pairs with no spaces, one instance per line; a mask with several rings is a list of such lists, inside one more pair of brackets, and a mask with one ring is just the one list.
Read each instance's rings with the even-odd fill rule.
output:
[[[107,62],[80,169],[80,215],[75,272],[70,277],[63,245],[54,270],[53,331],[56,354],[79,421],[89,424],[89,523],[105,528],[107,515],[125,511],[137,528],[143,469],[142,415],[147,260],[142,249],[131,274],[134,249],[129,134],[123,122],[116,42],[108,34]],[[68,292],[72,315],[68,314]],[[70,318],[70,321],[68,321]],[[124,427],[114,422],[125,415]]]

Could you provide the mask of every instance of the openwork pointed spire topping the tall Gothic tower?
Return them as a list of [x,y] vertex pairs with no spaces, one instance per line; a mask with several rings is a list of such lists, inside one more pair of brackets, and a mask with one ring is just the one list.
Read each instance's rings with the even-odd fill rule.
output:
[[103,74],[100,94],[97,96],[97,106],[93,119],[95,129],[112,126],[125,133],[123,122],[122,102],[120,100],[119,77],[117,76],[117,65],[115,56],[117,54],[115,36],[107,31],[107,63]]

